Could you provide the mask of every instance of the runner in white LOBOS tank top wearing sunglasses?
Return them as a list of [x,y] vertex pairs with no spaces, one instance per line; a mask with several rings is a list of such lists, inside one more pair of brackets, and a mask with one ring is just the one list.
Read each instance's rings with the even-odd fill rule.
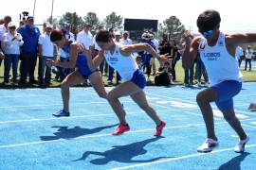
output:
[[233,109],[233,97],[241,91],[242,74],[235,59],[237,46],[247,42],[256,42],[255,33],[224,34],[219,30],[220,14],[216,10],[206,10],[197,18],[197,26],[203,38],[192,40],[189,31],[185,31],[186,47],[183,52],[182,64],[185,69],[190,68],[192,60],[200,52],[200,58],[206,66],[210,77],[210,88],[200,92],[196,101],[207,128],[207,140],[197,148],[198,152],[210,152],[218,146],[218,139],[214,132],[213,113],[210,102],[215,102],[229,125],[237,132],[240,142],[234,148],[235,152],[244,152],[248,141],[247,134]]

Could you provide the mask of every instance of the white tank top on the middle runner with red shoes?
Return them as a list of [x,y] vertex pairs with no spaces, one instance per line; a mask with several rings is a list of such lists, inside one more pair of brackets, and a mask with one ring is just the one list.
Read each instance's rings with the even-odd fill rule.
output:
[[104,51],[104,58],[111,67],[119,72],[119,75],[124,80],[131,80],[138,69],[137,62],[132,54],[130,56],[122,56],[120,54],[120,45],[118,43],[115,45],[113,55],[110,51]]

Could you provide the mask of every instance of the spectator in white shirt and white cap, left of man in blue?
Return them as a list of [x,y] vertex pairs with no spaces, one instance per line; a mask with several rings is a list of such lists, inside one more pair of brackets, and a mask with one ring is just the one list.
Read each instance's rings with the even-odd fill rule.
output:
[[20,55],[20,46],[24,43],[20,33],[17,33],[16,26],[9,23],[9,32],[3,36],[2,47],[5,51],[5,73],[4,84],[9,85],[9,70],[12,65],[12,82],[17,83],[17,69]]

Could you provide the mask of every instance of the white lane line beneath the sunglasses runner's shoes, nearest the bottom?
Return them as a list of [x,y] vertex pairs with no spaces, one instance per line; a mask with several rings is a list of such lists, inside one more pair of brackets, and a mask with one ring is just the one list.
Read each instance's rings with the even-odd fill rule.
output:
[[[255,147],[255,146],[256,146],[256,144],[246,145],[247,148]],[[134,164],[134,165],[129,165],[129,166],[116,167],[116,168],[111,168],[110,170],[130,169],[130,168],[141,167],[141,166],[149,166],[149,165],[152,165],[152,164],[163,163],[163,162],[168,162],[168,161],[185,160],[185,159],[189,159],[189,158],[193,158],[193,157],[200,157],[200,156],[206,156],[206,155],[211,155],[211,154],[220,153],[220,152],[226,152],[226,151],[230,151],[230,150],[233,150],[233,149],[234,149],[233,147],[230,147],[230,148],[226,148],[226,149],[215,150],[215,151],[212,151],[210,153],[196,153],[196,154],[185,155],[185,156],[166,159],[166,160],[161,160],[161,161],[152,161],[152,162],[139,163],[139,164]]]

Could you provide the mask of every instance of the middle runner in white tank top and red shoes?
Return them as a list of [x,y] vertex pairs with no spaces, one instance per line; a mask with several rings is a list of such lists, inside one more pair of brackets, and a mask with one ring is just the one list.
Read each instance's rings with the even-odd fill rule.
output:
[[[96,69],[101,64],[102,59],[105,58],[108,64],[117,70],[119,75],[125,80],[124,83],[119,84],[119,86],[107,94],[108,102],[119,118],[119,127],[117,127],[112,134],[119,135],[130,129],[125,120],[125,111],[119,102],[120,97],[130,95],[137,105],[142,110],[145,110],[145,112],[155,121],[155,136],[160,136],[162,128],[165,127],[165,122],[160,120],[154,108],[148,104],[146,95],[143,91],[143,88],[146,85],[146,78],[143,72],[138,69],[132,53],[146,50],[157,59],[164,60],[165,57],[159,56],[147,43],[119,45],[113,41],[111,33],[107,30],[100,30],[97,33],[96,42],[101,47],[101,51],[93,60],[88,58],[88,63],[89,66],[91,66],[91,69]],[[84,53],[86,53],[86,51]]]

